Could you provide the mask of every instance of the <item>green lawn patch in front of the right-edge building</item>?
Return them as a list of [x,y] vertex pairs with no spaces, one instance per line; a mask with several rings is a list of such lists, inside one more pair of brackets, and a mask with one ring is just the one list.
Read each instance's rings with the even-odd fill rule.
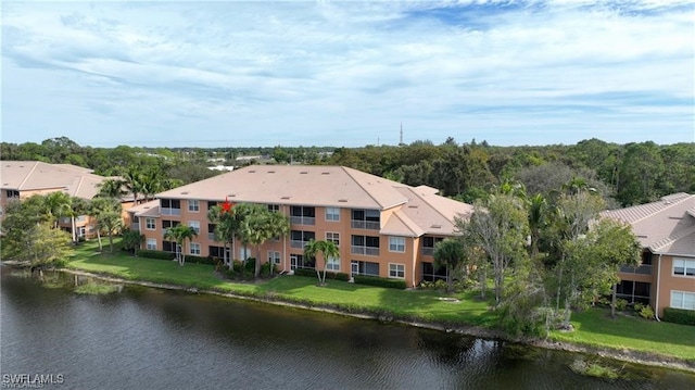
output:
[[551,339],[599,348],[659,353],[695,362],[695,326],[658,323],[592,309],[572,314],[574,331],[553,331]]

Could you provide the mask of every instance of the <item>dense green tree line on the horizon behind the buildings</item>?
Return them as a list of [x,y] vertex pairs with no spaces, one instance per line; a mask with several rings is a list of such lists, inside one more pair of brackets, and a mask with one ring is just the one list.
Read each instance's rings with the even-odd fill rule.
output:
[[[211,159],[238,164],[239,155],[262,155],[277,164],[344,165],[412,186],[428,185],[442,194],[472,203],[505,181],[519,181],[529,193],[548,196],[573,177],[601,191],[608,207],[695,192],[695,142],[617,144],[589,139],[577,144],[496,147],[488,142],[441,144],[418,140],[401,146],[363,148],[116,148],[81,147],[66,137],[41,143],[0,143],[2,160],[38,160],[124,176],[130,167],[156,167],[162,176],[189,184],[218,174]],[[247,161],[243,164],[254,163]]]

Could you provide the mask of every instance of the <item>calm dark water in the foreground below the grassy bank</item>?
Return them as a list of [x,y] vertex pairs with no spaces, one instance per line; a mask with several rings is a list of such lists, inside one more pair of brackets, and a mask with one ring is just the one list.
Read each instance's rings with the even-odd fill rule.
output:
[[631,379],[583,377],[569,365],[593,357],[579,354],[156,289],[79,295],[1,273],[2,379],[62,381],[45,389],[695,388],[694,375],[632,365]]

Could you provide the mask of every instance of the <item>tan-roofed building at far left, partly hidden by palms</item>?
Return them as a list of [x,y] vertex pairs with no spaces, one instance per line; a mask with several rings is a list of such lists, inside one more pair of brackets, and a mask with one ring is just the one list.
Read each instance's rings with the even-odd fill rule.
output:
[[[92,199],[99,193],[98,186],[109,178],[94,175],[92,169],[71,164],[40,161],[0,161],[0,214],[3,214],[9,201],[34,194],[62,191],[71,197]],[[130,207],[132,198],[122,199],[122,205],[124,210]],[[124,213],[124,217],[129,217],[129,214]],[[77,237],[91,238],[96,235],[96,223],[91,217],[80,215],[75,224]],[[72,232],[70,218],[61,218],[60,226]]]

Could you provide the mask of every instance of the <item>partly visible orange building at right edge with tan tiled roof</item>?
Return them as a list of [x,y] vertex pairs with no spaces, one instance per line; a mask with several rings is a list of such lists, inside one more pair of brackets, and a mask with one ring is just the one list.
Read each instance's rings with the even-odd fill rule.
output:
[[695,310],[695,194],[674,193],[658,202],[605,211],[626,222],[643,248],[642,265],[622,267],[618,297],[664,307]]

